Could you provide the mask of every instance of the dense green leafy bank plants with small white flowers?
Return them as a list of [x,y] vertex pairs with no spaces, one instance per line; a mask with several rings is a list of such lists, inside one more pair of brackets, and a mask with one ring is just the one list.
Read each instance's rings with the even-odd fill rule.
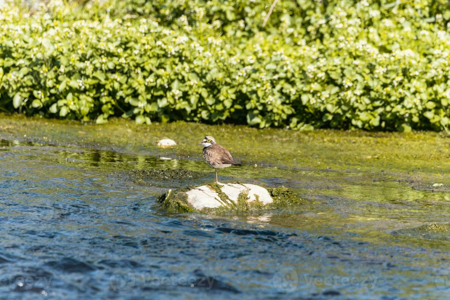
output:
[[[0,109],[105,123],[442,130],[440,1],[49,1],[0,7]],[[27,10],[27,12],[25,12]]]

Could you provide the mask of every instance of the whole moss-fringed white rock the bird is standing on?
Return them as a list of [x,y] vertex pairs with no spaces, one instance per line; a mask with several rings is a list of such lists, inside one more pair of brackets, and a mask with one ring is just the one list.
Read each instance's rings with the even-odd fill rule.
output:
[[158,197],[158,201],[169,211],[208,213],[255,211],[305,204],[305,200],[289,188],[266,189],[256,184],[240,182],[169,190]]

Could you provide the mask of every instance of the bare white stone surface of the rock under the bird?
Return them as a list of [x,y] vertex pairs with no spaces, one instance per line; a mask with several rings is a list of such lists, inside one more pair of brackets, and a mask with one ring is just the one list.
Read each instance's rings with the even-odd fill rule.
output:
[[[219,184],[222,186],[222,192],[225,193],[231,201],[234,201],[234,203],[238,202],[239,193],[244,190],[248,193],[249,199],[247,202],[255,201],[256,195],[258,196],[258,200],[263,204],[272,203],[273,201],[269,192],[265,188],[256,184]],[[226,204],[220,199],[217,192],[209,185],[202,185],[198,188],[193,188],[186,192],[186,194],[188,195],[189,204],[197,210],[226,206]]]

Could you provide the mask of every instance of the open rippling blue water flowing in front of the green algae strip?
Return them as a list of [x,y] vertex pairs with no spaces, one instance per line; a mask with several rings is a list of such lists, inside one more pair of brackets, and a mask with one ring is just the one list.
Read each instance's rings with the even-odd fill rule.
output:
[[[288,186],[309,205],[260,215],[166,214],[204,162],[0,143],[0,291],[9,298],[450,296],[448,193],[378,173],[242,166],[221,180]],[[196,179],[136,182],[130,170]]]

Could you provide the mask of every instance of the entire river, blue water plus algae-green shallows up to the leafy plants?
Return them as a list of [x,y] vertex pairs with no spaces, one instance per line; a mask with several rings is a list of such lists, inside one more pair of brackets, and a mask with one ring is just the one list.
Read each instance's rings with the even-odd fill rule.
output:
[[[306,204],[173,214],[208,184],[212,135],[242,166],[219,180],[286,186]],[[173,148],[157,148],[171,138]],[[449,143],[442,133],[293,132],[0,115],[0,290],[11,297],[445,298]],[[187,170],[176,178],[158,172]]]

